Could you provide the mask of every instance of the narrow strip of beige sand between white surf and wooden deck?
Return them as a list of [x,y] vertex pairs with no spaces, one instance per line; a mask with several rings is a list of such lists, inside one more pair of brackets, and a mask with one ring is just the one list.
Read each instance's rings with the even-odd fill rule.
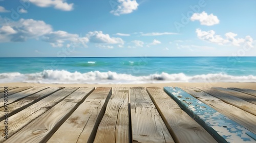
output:
[[216,82],[216,83],[141,83],[141,84],[45,84],[45,83],[0,83],[0,87],[3,86],[50,86],[50,87],[132,87],[132,86],[142,86],[142,87],[161,87],[164,86],[177,86],[177,87],[237,87],[237,88],[248,88],[256,90],[255,82]]

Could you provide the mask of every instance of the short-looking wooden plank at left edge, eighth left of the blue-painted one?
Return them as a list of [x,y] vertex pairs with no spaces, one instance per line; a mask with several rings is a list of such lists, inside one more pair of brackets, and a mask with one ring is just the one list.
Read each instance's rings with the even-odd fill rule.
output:
[[[16,102],[20,99],[28,97],[34,93],[37,93],[37,92],[42,91],[47,88],[49,88],[49,87],[33,87],[28,90],[24,90],[24,91],[20,91],[18,93],[12,94],[11,96],[8,96],[8,104]],[[0,100],[0,107],[3,107],[3,106],[4,106],[4,100]]]

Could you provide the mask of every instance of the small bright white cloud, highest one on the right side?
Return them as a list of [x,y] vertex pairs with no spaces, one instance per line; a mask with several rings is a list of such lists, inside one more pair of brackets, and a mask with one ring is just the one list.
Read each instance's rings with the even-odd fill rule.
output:
[[220,23],[220,20],[218,19],[217,16],[213,15],[212,13],[208,15],[204,11],[202,13],[194,13],[190,17],[190,20],[191,21],[199,20],[200,24],[205,26],[213,26]]

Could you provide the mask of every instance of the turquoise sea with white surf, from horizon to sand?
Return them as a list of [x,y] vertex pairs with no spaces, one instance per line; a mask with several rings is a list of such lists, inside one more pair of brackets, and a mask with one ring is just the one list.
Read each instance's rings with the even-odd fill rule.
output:
[[0,58],[0,83],[256,82],[256,57]]

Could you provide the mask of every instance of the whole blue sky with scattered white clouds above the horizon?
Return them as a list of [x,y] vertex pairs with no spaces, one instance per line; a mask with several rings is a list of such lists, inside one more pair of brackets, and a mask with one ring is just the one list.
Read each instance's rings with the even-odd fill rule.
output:
[[0,57],[256,56],[256,1],[0,0]]

